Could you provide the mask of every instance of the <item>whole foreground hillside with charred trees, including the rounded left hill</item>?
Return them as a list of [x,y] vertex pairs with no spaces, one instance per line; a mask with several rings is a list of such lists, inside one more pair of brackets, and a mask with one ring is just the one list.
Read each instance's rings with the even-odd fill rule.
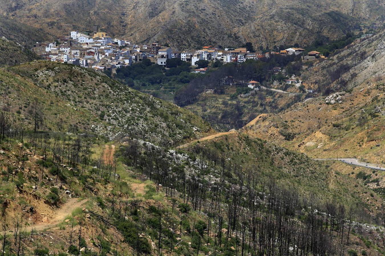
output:
[[361,179],[237,132],[199,142],[201,118],[90,69],[33,61],[0,80],[7,255],[383,251],[382,227],[352,221],[383,218]]

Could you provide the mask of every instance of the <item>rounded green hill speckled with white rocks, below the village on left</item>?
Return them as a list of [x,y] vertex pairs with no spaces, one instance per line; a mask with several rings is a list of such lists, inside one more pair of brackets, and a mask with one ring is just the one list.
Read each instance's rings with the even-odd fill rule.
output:
[[[21,77],[3,70],[7,79],[2,83],[3,90],[8,90],[10,97],[7,108],[13,113],[19,108],[20,114],[27,116],[36,98],[42,116],[47,116],[43,119],[52,130],[71,128],[96,132],[110,139],[130,136],[171,144],[210,131],[208,124],[187,110],[89,69],[33,61],[14,66],[11,71]],[[25,94],[20,95],[20,90]],[[35,97],[28,91],[36,92]]]

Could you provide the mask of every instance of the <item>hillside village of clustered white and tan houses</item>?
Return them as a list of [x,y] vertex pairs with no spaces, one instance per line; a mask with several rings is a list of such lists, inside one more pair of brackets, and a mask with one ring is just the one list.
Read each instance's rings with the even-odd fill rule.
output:
[[[150,59],[161,66],[166,66],[167,59],[179,58],[191,63],[199,60],[221,61],[222,63],[243,63],[248,59],[269,58],[273,54],[304,55],[305,49],[291,47],[280,52],[262,51],[249,52],[247,48],[219,49],[214,46],[204,46],[200,50],[177,50],[159,43],[137,45],[131,41],[112,38],[105,32],[71,31],[69,36],[57,38],[54,42],[36,43],[32,49],[42,59],[54,62],[69,63],[82,67],[104,71],[111,68],[121,68]],[[306,60],[323,57],[318,51],[310,51]],[[324,57],[323,57],[324,58]],[[195,73],[205,73],[205,68],[195,69]]]

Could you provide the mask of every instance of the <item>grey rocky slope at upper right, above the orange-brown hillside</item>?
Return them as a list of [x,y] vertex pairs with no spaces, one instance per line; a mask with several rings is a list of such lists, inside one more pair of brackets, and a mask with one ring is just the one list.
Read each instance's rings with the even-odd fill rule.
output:
[[[331,58],[303,72],[303,82],[319,92],[342,91],[359,86],[367,79],[385,76],[385,31],[360,38]],[[370,81],[369,81],[370,82]]]

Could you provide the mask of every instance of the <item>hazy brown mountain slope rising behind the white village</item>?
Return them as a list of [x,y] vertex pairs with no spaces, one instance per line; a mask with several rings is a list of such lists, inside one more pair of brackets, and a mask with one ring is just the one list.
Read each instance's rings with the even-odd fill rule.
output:
[[[82,15],[78,10],[82,10]],[[379,0],[178,1],[5,0],[0,12],[59,35],[97,25],[134,42],[161,41],[180,48],[205,44],[270,46],[336,39],[359,23],[381,20]],[[219,22],[220,21],[220,22]]]

